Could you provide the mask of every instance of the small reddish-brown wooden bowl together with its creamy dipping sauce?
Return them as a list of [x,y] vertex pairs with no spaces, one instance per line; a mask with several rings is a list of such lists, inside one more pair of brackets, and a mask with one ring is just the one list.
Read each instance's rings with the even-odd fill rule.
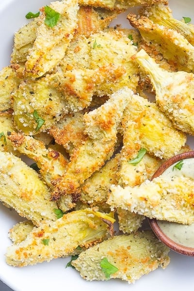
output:
[[[181,169],[173,170],[173,167],[178,163],[182,163]],[[151,179],[161,175],[172,175],[171,177],[183,175],[194,179],[194,151],[184,152],[166,160]],[[194,257],[194,224],[182,225],[155,218],[148,219],[148,221],[161,242],[179,254]]]

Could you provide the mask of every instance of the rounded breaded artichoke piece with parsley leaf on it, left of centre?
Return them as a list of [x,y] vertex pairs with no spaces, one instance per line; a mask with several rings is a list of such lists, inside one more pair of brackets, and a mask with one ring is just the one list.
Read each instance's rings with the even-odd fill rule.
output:
[[68,112],[62,94],[51,88],[45,78],[22,81],[12,97],[16,128],[25,134],[49,129]]

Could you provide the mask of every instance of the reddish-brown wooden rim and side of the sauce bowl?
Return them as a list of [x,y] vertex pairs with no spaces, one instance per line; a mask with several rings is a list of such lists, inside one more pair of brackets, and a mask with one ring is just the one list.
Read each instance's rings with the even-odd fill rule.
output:
[[[176,156],[173,156],[172,158],[166,160],[155,172],[153,175],[153,178],[159,177],[162,175],[162,173],[167,170],[168,167],[170,167],[172,164],[179,162],[181,160],[189,159],[189,158],[194,158],[194,151],[189,151],[189,152],[184,152],[181,154],[178,154]],[[157,219],[148,219],[149,224],[156,234],[156,236],[159,238],[160,241],[162,241],[165,245],[167,245],[170,249],[173,251],[180,253],[182,255],[186,256],[192,256],[194,257],[194,247],[188,247],[184,246],[182,244],[179,244],[177,242],[174,242],[172,239],[170,239],[161,229],[159,226]]]

